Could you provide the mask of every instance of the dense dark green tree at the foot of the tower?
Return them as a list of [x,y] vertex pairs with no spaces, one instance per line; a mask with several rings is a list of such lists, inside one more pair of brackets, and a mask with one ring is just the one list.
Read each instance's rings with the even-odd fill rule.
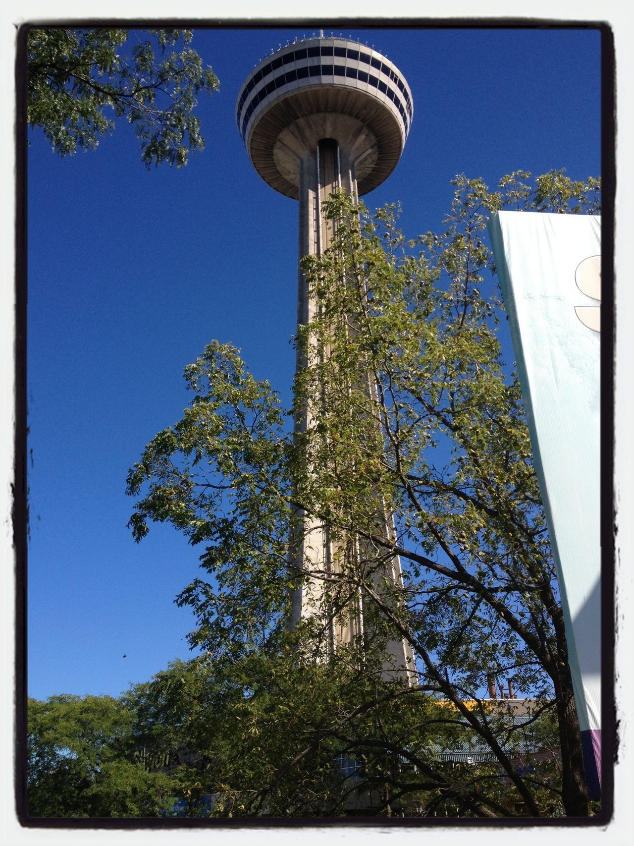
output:
[[210,771],[212,816],[516,815],[495,761],[447,760],[463,729],[430,689],[386,682],[345,650],[298,660],[298,640],[223,663],[243,693],[213,720],[230,754]]

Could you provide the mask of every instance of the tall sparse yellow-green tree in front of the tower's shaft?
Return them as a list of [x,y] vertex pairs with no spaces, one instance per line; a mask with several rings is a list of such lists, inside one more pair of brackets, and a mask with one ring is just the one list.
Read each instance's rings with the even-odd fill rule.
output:
[[[555,171],[534,184],[529,177],[512,173],[494,192],[481,179],[456,178],[445,228],[411,242],[395,206],[369,218],[333,196],[334,244],[303,260],[320,310],[298,344],[320,355],[298,373],[293,410],[309,405],[313,425],[292,436],[268,382],[254,380],[235,349],[211,343],[185,371],[194,399],[183,420],[159,433],[129,472],[128,493],[143,491],[130,525],[137,541],[158,520],[205,545],[201,566],[213,578],[195,580],[178,602],[197,616],[192,643],[234,663],[282,648],[288,593],[315,578],[288,563],[303,530],[299,514],[358,541],[341,573],[321,577],[332,615],[363,598],[369,625],[347,666],[360,667],[375,691],[380,660],[369,656],[391,637],[409,641],[418,688],[434,689],[448,703],[445,715],[453,709],[440,722],[463,742],[486,744],[495,778],[501,768],[511,785],[500,802],[490,768],[469,771],[456,788],[462,807],[510,813],[512,795],[528,816],[559,801],[567,815],[586,816],[566,634],[520,387],[501,360],[503,308],[485,226],[491,211],[508,206],[598,211],[600,182]],[[393,516],[394,533],[377,525],[377,503]],[[404,587],[379,585],[396,555]],[[311,648],[319,651],[322,622],[305,620],[295,633],[304,669]],[[489,674],[533,698],[539,714],[555,713],[560,777],[544,783],[516,772],[515,728],[482,698]],[[382,728],[358,726],[350,736],[329,717],[324,738],[359,755],[380,749],[422,772],[429,761],[416,733],[410,742],[407,732],[388,732],[380,697],[359,680],[357,689],[355,707],[379,715]],[[399,685],[385,696],[407,698]],[[381,769],[392,773],[385,783],[394,780],[393,768]]]

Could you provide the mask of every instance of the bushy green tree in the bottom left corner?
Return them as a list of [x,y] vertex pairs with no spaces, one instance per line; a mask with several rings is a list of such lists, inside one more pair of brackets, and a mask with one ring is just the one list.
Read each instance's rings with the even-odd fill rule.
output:
[[117,699],[30,699],[29,815],[172,816],[180,800],[184,816],[206,816],[201,781],[212,792],[210,755],[231,760],[213,718],[235,700],[230,687],[199,661],[176,661]]

